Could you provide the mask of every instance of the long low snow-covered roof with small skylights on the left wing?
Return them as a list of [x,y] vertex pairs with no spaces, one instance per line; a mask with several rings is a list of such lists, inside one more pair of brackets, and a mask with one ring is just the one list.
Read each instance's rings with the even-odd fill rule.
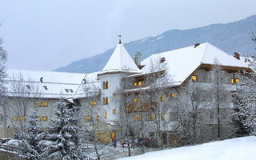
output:
[[[33,70],[7,70],[7,74],[7,95],[28,96],[24,93],[33,92],[34,95],[29,96],[40,96],[40,98],[72,97],[86,76],[86,74]],[[23,86],[22,90],[18,90],[19,86]]]

